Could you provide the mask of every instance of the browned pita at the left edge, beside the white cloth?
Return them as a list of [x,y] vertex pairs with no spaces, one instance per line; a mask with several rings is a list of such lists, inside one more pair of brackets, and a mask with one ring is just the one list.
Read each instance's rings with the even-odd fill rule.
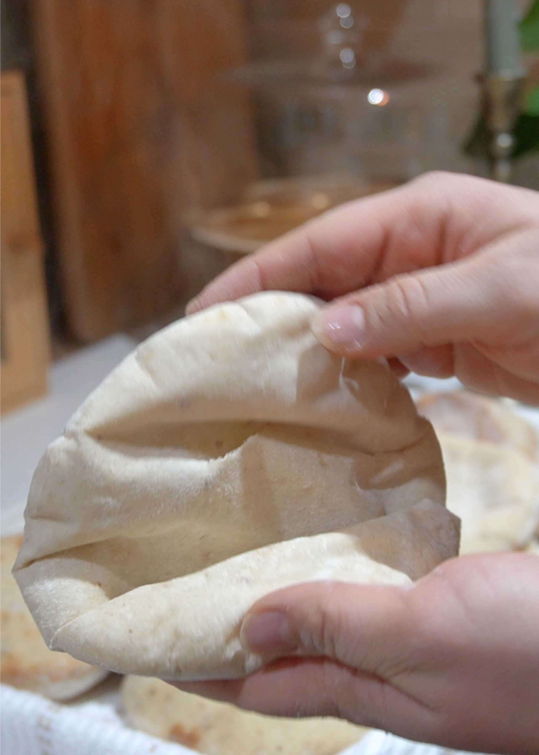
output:
[[2,684],[29,689],[51,700],[68,700],[82,695],[107,675],[66,653],[55,653],[43,642],[35,621],[11,575],[22,535],[2,538]]

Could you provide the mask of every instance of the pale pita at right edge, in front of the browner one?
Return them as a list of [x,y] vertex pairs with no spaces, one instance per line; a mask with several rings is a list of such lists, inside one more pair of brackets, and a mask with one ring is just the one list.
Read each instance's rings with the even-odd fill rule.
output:
[[539,522],[537,467],[504,445],[439,433],[460,553],[520,550]]

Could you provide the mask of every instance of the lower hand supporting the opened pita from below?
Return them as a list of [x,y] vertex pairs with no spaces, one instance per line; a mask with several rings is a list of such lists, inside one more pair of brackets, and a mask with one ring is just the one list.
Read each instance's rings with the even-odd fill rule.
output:
[[178,686],[445,747],[539,752],[537,556],[462,556],[411,587],[288,587],[257,602],[241,636],[283,660],[244,680]]

